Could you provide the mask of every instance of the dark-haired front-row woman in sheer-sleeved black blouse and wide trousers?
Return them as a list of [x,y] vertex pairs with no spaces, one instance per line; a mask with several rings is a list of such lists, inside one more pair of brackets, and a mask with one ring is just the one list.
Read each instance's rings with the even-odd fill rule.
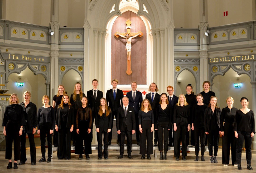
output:
[[[79,160],[83,159],[83,154],[86,155],[86,160],[89,160],[89,154],[92,154],[91,129],[92,129],[92,109],[87,106],[88,100],[86,96],[81,99],[82,106],[77,109],[76,114],[76,132],[77,142],[75,154],[79,154]],[[84,142],[84,152],[83,152]]]

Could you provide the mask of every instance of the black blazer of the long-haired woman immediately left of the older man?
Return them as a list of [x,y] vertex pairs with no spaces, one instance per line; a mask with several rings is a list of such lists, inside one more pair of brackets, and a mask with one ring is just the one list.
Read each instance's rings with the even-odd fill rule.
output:
[[100,110],[100,107],[97,107],[97,115],[95,116],[95,126],[96,128],[100,129],[100,132],[102,131],[108,132],[108,129],[111,129],[111,125],[112,125],[112,114],[110,112],[110,114],[107,117],[104,114],[100,116],[98,114],[99,110]]

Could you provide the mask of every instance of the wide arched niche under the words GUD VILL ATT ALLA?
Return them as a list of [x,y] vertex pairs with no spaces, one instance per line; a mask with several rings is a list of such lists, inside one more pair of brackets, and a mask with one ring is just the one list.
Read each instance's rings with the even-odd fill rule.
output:
[[[231,96],[234,99],[233,106],[241,108],[241,97],[247,97],[252,102],[251,79],[247,74],[238,75],[236,71],[230,68],[224,75],[217,75],[212,80],[212,91],[215,92],[217,105],[222,109],[227,106],[226,98]],[[234,88],[234,83],[241,83],[241,88]],[[255,99],[255,98],[254,98]],[[249,104],[249,109],[252,105]]]

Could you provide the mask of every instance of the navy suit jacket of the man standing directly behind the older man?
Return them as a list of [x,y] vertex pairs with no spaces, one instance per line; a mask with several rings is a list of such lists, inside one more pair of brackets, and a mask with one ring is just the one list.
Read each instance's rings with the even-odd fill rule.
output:
[[133,91],[127,92],[126,97],[129,98],[129,106],[133,107],[135,115],[138,115],[138,112],[141,109],[142,93],[140,91],[136,91],[135,100],[133,100],[132,92]]

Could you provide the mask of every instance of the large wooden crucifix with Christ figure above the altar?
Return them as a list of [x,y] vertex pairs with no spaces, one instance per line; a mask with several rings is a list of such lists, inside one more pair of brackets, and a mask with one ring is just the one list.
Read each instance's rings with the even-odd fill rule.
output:
[[132,74],[132,70],[131,70],[131,49],[132,49],[132,39],[135,38],[136,36],[142,37],[143,33],[141,31],[139,32],[131,32],[131,20],[126,20],[125,24],[126,24],[126,33],[119,33],[119,32],[115,32],[115,36],[116,38],[118,38],[119,36],[121,36],[122,38],[126,39],[126,45],[125,45],[125,50],[127,51],[127,70],[126,70],[126,74],[127,75],[131,75]]

